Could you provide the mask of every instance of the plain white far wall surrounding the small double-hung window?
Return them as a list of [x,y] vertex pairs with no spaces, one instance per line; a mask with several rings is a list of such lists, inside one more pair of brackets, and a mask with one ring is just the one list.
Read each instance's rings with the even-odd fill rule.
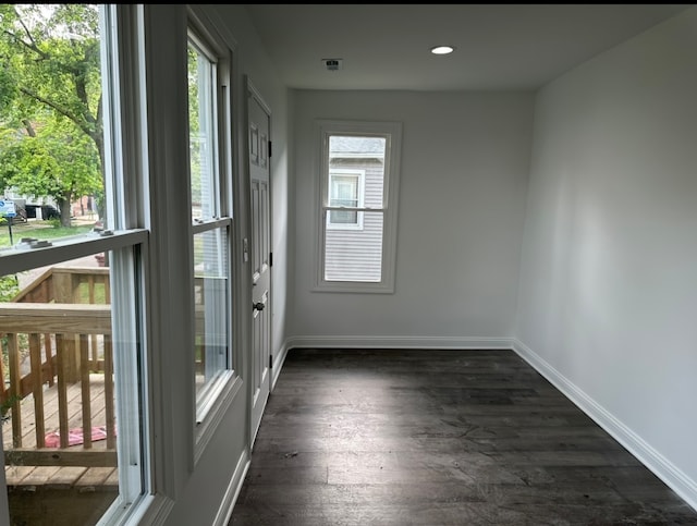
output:
[[[293,91],[292,344],[505,345],[513,334],[533,100],[527,91]],[[310,291],[314,119],[403,123],[394,294]]]

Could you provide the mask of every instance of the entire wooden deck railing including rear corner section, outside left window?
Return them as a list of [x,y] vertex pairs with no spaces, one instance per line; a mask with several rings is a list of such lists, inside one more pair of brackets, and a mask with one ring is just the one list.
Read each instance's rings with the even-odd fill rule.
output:
[[[5,464],[117,466],[109,302],[108,268],[56,267],[0,304],[0,403],[3,427],[12,426]],[[95,426],[106,428],[99,448]],[[75,428],[82,444],[69,450]],[[59,443],[47,448],[54,430]]]

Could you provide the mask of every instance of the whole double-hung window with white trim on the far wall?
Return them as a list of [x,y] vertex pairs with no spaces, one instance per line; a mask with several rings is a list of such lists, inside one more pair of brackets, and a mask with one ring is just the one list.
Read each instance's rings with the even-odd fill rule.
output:
[[395,122],[317,121],[317,291],[394,291],[399,160]]

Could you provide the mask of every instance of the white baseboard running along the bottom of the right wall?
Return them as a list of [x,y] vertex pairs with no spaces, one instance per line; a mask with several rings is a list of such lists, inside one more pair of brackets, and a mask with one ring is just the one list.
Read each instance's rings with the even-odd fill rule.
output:
[[548,362],[541,358],[523,342],[512,339],[513,351],[525,359],[533,368],[549,380],[568,400],[576,404],[586,415],[592,418],[612,438],[620,442],[641,464],[650,469],[667,486],[697,510],[697,484],[681,469],[644,441],[632,429],[613,416],[604,407],[588,396],[583,390],[560,374]]

